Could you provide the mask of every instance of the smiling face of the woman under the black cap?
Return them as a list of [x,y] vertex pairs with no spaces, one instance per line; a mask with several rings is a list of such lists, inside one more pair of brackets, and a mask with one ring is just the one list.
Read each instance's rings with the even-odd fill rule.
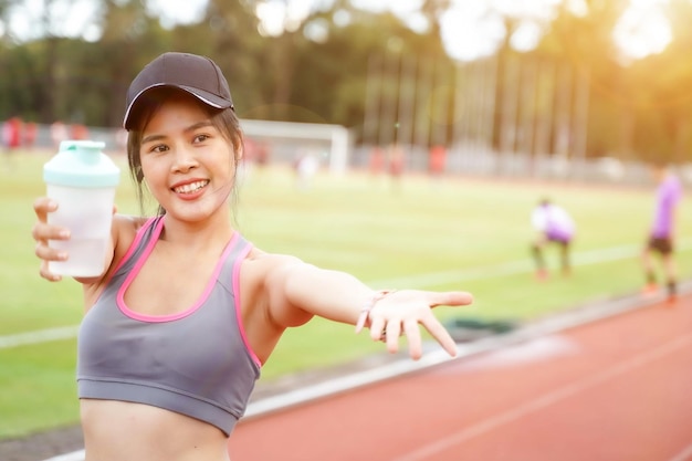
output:
[[170,218],[199,222],[222,210],[235,167],[232,145],[192,96],[169,97],[144,127],[139,157],[149,191]]

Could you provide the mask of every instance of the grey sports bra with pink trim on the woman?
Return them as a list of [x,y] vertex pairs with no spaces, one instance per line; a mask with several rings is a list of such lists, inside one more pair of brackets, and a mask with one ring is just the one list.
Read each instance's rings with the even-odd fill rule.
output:
[[137,233],[77,339],[80,398],[151,405],[209,422],[230,434],[243,416],[260,360],[240,317],[239,270],[251,249],[235,233],[198,302],[167,316],[130,311],[124,293],[154,249],[165,217]]

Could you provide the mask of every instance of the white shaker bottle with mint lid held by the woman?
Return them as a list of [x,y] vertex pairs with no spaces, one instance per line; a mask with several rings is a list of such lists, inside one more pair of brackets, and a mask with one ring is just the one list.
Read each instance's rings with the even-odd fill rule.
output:
[[69,240],[50,240],[49,247],[67,253],[66,261],[50,261],[49,270],[61,275],[96,276],[104,271],[111,239],[115,190],[120,170],[102,150],[105,143],[64,140],[44,166],[48,197],[57,210],[48,222],[70,230]]

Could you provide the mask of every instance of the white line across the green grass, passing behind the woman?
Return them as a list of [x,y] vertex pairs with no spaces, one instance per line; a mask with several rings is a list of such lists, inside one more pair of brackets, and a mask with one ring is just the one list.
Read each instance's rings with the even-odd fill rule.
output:
[[[678,251],[692,249],[692,240],[683,240],[678,244]],[[636,258],[641,251],[639,245],[621,245],[599,250],[589,250],[573,256],[573,265],[599,264],[611,261]],[[533,261],[522,260],[494,265],[485,265],[476,269],[459,269],[455,271],[431,272],[405,277],[379,280],[368,283],[369,286],[407,286],[410,289],[423,289],[452,282],[468,282],[471,280],[493,279],[504,275],[516,275],[534,270]],[[76,336],[78,326],[39,329],[36,332],[19,333],[15,335],[0,336],[0,349],[10,347],[48,343],[59,339],[71,339]]]

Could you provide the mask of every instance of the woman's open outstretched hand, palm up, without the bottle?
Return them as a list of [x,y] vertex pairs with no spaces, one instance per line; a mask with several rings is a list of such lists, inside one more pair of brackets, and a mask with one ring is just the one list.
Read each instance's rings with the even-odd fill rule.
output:
[[[390,353],[399,350],[399,336],[403,334],[409,344],[409,355],[415,360],[422,356],[422,339],[418,327],[421,324],[454,357],[457,343],[434,316],[432,307],[464,306],[472,302],[473,296],[466,292],[396,291],[375,302],[367,313],[366,324],[369,324],[370,337],[386,342]],[[356,325],[356,333],[363,326]]]

